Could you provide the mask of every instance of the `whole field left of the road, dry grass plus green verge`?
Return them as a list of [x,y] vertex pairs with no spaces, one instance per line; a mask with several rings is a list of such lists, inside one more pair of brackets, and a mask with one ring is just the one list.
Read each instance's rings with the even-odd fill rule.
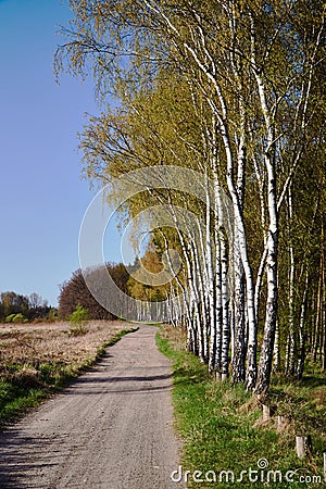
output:
[[0,325],[0,425],[65,385],[133,328],[118,321],[89,321],[79,334],[68,322]]

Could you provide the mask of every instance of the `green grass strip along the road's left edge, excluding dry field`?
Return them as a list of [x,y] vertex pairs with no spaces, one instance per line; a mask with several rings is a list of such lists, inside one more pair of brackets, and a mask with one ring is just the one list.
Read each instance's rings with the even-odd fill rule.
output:
[[105,341],[97,351],[95,358],[89,358],[83,364],[62,364],[51,361],[35,365],[7,365],[8,375],[0,379],[0,428],[21,417],[30,408],[39,405],[53,392],[83,374],[103,355],[105,348],[115,344],[123,336],[138,328],[123,329],[112,339]]

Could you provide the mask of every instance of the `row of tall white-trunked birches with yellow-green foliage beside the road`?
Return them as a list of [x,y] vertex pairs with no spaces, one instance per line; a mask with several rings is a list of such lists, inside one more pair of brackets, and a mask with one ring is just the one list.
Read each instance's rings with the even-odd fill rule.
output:
[[106,185],[153,166],[201,175],[204,200],[143,184],[122,209],[171,215],[174,228],[152,242],[183,259],[164,293],[188,350],[258,396],[273,371],[300,379],[308,359],[325,369],[324,2],[70,5],[55,68],[91,73],[103,102],[80,137],[87,177]]

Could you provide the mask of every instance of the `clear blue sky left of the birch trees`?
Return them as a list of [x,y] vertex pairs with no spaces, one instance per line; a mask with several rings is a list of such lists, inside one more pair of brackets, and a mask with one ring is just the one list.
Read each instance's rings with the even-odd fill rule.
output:
[[[97,114],[92,80],[53,76],[65,0],[0,0],[0,291],[57,305],[79,267],[78,233],[93,197],[80,178],[77,133]],[[118,236],[105,260],[121,261]],[[108,248],[109,247],[109,248]]]

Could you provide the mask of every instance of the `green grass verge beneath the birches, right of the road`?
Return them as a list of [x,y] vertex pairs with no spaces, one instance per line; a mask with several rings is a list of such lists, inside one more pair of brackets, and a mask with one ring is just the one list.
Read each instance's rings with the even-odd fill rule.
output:
[[[252,396],[242,385],[233,386],[229,381],[217,383],[208,374],[208,368],[192,354],[173,348],[167,338],[159,334],[158,346],[160,350],[173,362],[173,403],[175,409],[177,429],[184,442],[183,474],[190,471],[187,487],[200,488],[261,488],[261,487],[325,487],[321,484],[310,482],[315,475],[323,476],[323,451],[326,451],[325,441],[318,432],[311,432],[313,438],[313,457],[300,461],[294,450],[294,436],[291,430],[278,432],[275,422],[265,425],[258,422],[261,410]],[[304,388],[292,386],[291,394],[297,398],[304,397]],[[274,394],[280,392],[290,398],[279,385],[274,388]],[[306,394],[306,392],[305,392]],[[294,396],[293,396],[294,397]],[[301,400],[302,401],[302,400]],[[304,404],[304,403],[303,403]],[[308,404],[305,403],[308,410]],[[312,412],[310,412],[312,414]],[[255,474],[249,478],[248,473],[240,478],[241,471],[262,471],[258,467],[261,459],[268,461],[268,468],[263,473],[263,481],[253,481]],[[262,463],[262,462],[261,462]],[[264,481],[267,471],[280,471],[283,481],[269,485]],[[293,482],[285,480],[288,471],[299,471],[293,475]],[[195,471],[199,479],[208,478],[210,481],[196,482],[192,480]],[[209,473],[209,471],[213,471]],[[235,474],[234,484],[226,482],[226,475],[221,471],[231,471]],[[211,481],[214,479],[217,481]],[[299,476],[308,476],[306,481],[299,481]],[[177,477],[177,475],[176,475]],[[229,480],[231,475],[228,476]],[[288,474],[291,478],[291,474]],[[277,479],[278,480],[278,479]]]

